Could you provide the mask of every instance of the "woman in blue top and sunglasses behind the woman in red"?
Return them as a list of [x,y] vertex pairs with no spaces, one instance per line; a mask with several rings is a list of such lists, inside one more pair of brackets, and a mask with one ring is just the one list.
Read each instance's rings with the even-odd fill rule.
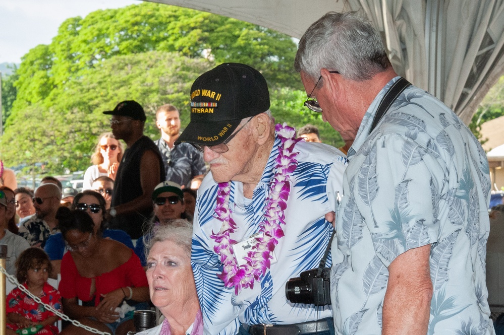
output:
[[[105,229],[105,199],[100,193],[91,190],[85,190],[78,193],[74,197],[74,202],[71,208],[73,210],[87,212],[93,220],[93,232],[98,238],[113,239],[123,243],[130,249],[134,248],[131,238],[126,232],[116,229]],[[53,269],[51,278],[56,278],[56,276],[60,273],[63,254],[67,251],[62,233],[50,235],[47,238],[44,250],[51,260]]]

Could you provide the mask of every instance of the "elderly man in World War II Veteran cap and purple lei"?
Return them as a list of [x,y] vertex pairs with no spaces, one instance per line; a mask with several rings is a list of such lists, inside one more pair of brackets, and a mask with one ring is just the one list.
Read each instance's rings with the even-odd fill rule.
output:
[[[286,283],[324,257],[333,230],[324,215],[335,210],[346,159],[275,126],[269,106],[266,81],[244,64],[221,64],[191,89],[191,122],[178,142],[210,165],[191,256],[205,333],[331,334],[329,301],[298,299],[295,289],[289,301]],[[317,280],[327,297],[328,281]]]

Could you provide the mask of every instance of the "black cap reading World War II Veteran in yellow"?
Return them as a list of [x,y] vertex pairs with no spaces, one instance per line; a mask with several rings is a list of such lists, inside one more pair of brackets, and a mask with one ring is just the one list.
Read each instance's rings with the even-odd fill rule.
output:
[[259,71],[245,64],[220,64],[193,83],[191,121],[175,144],[220,144],[242,119],[263,113],[269,106],[268,85]]

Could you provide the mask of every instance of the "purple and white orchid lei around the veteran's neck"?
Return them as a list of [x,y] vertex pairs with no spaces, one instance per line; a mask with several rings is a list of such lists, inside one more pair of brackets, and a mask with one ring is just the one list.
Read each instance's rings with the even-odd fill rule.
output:
[[278,240],[284,236],[281,224],[285,225],[284,211],[287,209],[287,199],[291,190],[291,174],[296,170],[298,161],[294,146],[301,139],[296,139],[296,130],[286,123],[275,125],[276,135],[281,140],[278,146],[278,156],[274,167],[274,175],[269,187],[269,195],[266,198],[264,219],[259,224],[259,232],[262,233],[255,239],[259,242],[252,246],[251,251],[244,257],[245,264],[238,266],[234,256],[232,245],[236,243],[230,235],[237,225],[231,216],[229,197],[231,184],[219,183],[217,190],[216,218],[222,221],[220,231],[210,237],[215,240],[213,247],[215,253],[220,255],[223,270],[220,278],[226,287],[235,287],[235,294],[244,288],[253,288],[254,281],[259,281],[266,269],[271,266],[271,253],[278,244]]

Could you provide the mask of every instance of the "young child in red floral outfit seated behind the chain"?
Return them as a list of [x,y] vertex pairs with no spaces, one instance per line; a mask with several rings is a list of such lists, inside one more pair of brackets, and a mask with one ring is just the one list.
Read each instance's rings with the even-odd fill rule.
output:
[[[34,296],[39,297],[43,303],[62,311],[60,292],[47,284],[51,271],[49,257],[40,248],[26,249],[16,261],[18,282]],[[16,335],[16,330],[36,325],[43,326],[37,335],[58,334],[58,327],[54,325],[58,320],[58,316],[35,302],[19,287],[7,296],[7,334]]]

